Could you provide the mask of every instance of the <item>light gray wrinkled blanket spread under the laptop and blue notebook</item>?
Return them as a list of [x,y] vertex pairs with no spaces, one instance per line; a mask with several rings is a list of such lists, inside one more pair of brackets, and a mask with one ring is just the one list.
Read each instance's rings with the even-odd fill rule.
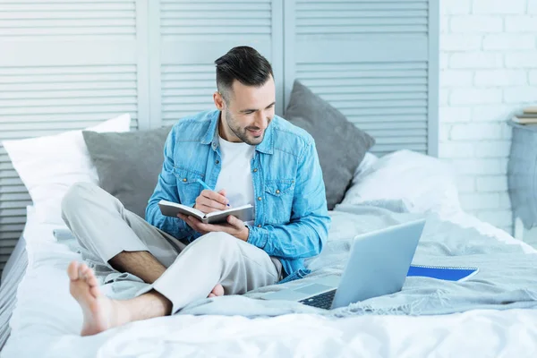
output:
[[[186,306],[179,314],[256,317],[315,313],[347,317],[365,314],[438,315],[478,309],[537,307],[537,254],[526,254],[519,245],[491,240],[490,236],[480,234],[473,228],[457,226],[437,214],[407,213],[397,201],[391,200],[339,205],[330,215],[333,222],[328,244],[319,256],[307,260],[306,265],[312,270],[308,277],[283,285],[262,287],[244,295],[202,299]],[[480,272],[465,282],[408,277],[401,292],[329,311],[288,301],[256,299],[263,293],[307,284],[316,277],[340,275],[356,235],[419,217],[425,217],[427,221],[413,263],[476,266]],[[108,295],[117,299],[131,298],[147,286],[130,274],[110,271],[91,257],[88,251],[77,247],[72,236],[65,238],[65,243],[72,245],[72,250],[80,251],[97,270]]]

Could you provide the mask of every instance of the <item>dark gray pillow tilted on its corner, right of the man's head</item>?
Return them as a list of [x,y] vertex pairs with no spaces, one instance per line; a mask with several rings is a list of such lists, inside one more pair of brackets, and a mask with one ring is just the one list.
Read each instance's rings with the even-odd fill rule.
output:
[[284,117],[309,132],[315,140],[328,209],[334,209],[343,200],[354,170],[375,140],[297,80]]

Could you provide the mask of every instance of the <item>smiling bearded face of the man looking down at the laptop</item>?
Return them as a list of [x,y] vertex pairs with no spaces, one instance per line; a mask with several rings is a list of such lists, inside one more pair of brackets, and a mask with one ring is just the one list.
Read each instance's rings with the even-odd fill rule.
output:
[[258,145],[274,117],[276,87],[272,77],[260,87],[234,81],[222,111],[223,130],[227,141]]

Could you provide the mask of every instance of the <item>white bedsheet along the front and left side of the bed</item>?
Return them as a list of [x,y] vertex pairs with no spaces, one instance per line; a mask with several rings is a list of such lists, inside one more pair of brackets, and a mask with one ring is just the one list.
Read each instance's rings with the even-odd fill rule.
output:
[[[31,209],[31,208],[30,208]],[[507,233],[458,213],[453,221],[501,241]],[[78,254],[55,243],[52,230],[25,228],[29,268],[18,289],[12,336],[3,357],[167,356],[537,356],[537,311],[467,311],[445,316],[327,319],[301,314],[244,317],[177,315],[80,337],[81,311],[65,268]]]

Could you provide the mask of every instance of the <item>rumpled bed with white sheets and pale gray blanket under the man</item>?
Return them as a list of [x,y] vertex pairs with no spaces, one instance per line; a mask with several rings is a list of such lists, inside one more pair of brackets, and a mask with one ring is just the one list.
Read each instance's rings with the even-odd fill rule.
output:
[[[460,209],[445,170],[439,159],[409,150],[368,154],[330,211],[326,249],[307,265],[312,277],[341,272],[355,234],[427,217],[414,262],[479,263],[480,274],[467,283],[409,277],[401,293],[334,312],[257,300],[281,289],[268,286],[92,337],[79,336],[81,311],[65,275],[68,262],[85,253],[66,226],[39,221],[29,206],[18,252],[26,252],[28,267],[21,260],[5,277],[13,288],[21,280],[2,356],[535,356],[537,251]],[[393,175],[400,180],[390,182]],[[99,276],[105,282],[109,274]],[[120,279],[105,287],[118,297],[132,292]]]

